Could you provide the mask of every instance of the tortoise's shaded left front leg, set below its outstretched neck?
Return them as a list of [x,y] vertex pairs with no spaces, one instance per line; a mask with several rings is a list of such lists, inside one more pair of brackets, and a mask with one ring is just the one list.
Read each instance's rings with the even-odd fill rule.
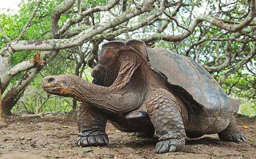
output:
[[78,145],[87,146],[105,146],[109,143],[106,134],[107,118],[99,110],[80,103],[78,107]]

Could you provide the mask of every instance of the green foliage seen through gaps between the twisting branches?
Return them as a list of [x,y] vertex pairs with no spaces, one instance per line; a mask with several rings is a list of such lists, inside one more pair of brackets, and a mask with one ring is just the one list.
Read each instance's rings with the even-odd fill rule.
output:
[[[0,26],[3,28],[4,32],[11,38],[16,38],[20,31],[22,30],[24,24],[28,21],[29,15],[32,14],[33,8],[36,5],[36,0],[23,1],[19,8],[18,13],[0,14]],[[53,14],[54,8],[58,6],[61,0],[52,1],[45,0],[42,1],[35,17],[33,18],[30,26],[25,31],[21,40],[44,40],[52,39],[50,18]],[[79,2],[79,1],[76,1]],[[109,4],[109,1],[106,0],[81,0],[81,11],[86,11],[95,6],[105,6]],[[123,1],[126,2],[126,1]],[[127,1],[126,4],[119,4],[113,7],[110,11],[95,12],[89,16],[85,16],[80,23],[75,23],[70,26],[70,33],[74,35],[62,35],[61,38],[70,38],[75,36],[75,30],[84,28],[89,28],[91,25],[95,27],[102,24],[104,21],[115,19],[117,16],[121,15],[125,10],[132,12],[133,8],[138,8],[142,5],[143,1]],[[146,20],[152,14],[158,12],[158,8],[161,5],[161,1],[157,1],[155,6],[150,12],[145,12],[141,16],[130,19],[128,22],[124,22],[116,27],[104,31],[100,36],[113,33],[113,31],[121,30],[122,28],[132,27],[136,28],[140,22]],[[174,1],[170,1],[174,3]],[[164,14],[158,17],[157,20],[149,21],[146,25],[131,31],[124,31],[122,34],[114,36],[115,40],[128,40],[128,39],[141,39],[147,41],[147,38],[153,34],[162,34],[162,35],[177,35],[179,33],[184,33],[193,23],[193,20],[198,17],[200,14],[204,18],[211,18],[211,16],[220,17],[225,19],[228,24],[236,24],[242,21],[249,12],[248,5],[250,1],[183,1],[183,6],[173,13],[176,6],[175,4],[169,9],[165,10]],[[126,9],[123,6],[126,5]],[[130,7],[130,8],[129,8]],[[79,6],[78,4],[73,5],[70,9],[64,12],[59,21],[59,26],[65,25],[71,18],[76,18],[78,16]],[[127,13],[129,13],[127,12]],[[173,14],[177,22],[168,17],[168,14]],[[172,18],[173,18],[172,17]],[[254,18],[255,19],[255,18]],[[163,27],[167,23],[166,28],[162,31]],[[255,21],[254,21],[255,23]],[[67,31],[67,32],[68,32]],[[81,32],[80,31],[80,32]],[[162,35],[159,35],[158,39],[149,41],[147,45],[149,47],[161,47],[174,50],[178,54],[186,55],[191,58],[194,58],[201,66],[206,68],[214,78],[220,82],[222,88],[231,98],[240,98],[242,99],[242,106],[239,113],[246,114],[249,116],[255,115],[256,112],[256,101],[255,101],[255,55],[250,58],[245,65],[238,67],[238,63],[242,61],[250,51],[253,51],[253,45],[255,45],[255,40],[249,37],[248,35],[255,35],[255,27],[248,25],[243,31],[246,33],[236,33],[232,31],[227,31],[221,29],[220,27],[213,25],[209,22],[203,21],[195,27],[191,35],[185,38],[184,40],[177,42],[169,42],[161,40]],[[241,31],[240,31],[241,32]],[[241,34],[239,36],[239,34]],[[100,37],[97,36],[97,37]],[[157,35],[156,35],[157,36]],[[96,37],[96,36],[95,36]],[[235,38],[234,38],[235,37]],[[97,39],[104,42],[113,40],[112,38]],[[199,44],[201,40],[204,40]],[[228,39],[228,40],[223,40]],[[100,42],[101,42],[100,41]],[[88,66],[91,57],[93,57],[93,40],[85,41],[81,46],[76,46],[73,48],[63,49],[56,55],[54,60],[47,63],[47,66],[44,67],[40,73],[34,78],[30,86],[24,90],[22,98],[16,104],[15,109],[28,109],[29,111],[35,112],[35,106],[37,105],[37,99],[40,96],[42,91],[40,87],[41,78],[46,75],[59,75],[64,73],[75,74],[82,76],[88,81],[92,80],[90,76],[91,68],[93,65]],[[100,43],[99,42],[99,43]],[[8,41],[0,34],[0,46],[4,46]],[[99,45],[101,46],[101,44]],[[230,46],[231,51],[227,50],[227,47]],[[100,48],[100,47],[99,47]],[[30,60],[33,57],[33,54],[36,51],[19,51],[15,52],[11,57],[12,65],[17,63]],[[227,54],[230,54],[234,59],[229,61],[228,65],[220,68],[220,66],[227,59]],[[235,56],[236,55],[236,56]],[[82,61],[82,64],[80,63]],[[93,57],[92,63],[97,62],[97,57]],[[81,65],[79,65],[79,63]],[[236,69],[236,67],[238,67]],[[78,68],[78,72],[75,72]],[[8,89],[11,86],[14,86],[23,72],[20,72],[14,78],[12,78],[11,83]],[[230,73],[230,74],[229,74]],[[224,79],[224,80],[223,80]],[[41,105],[44,100],[47,99],[47,94],[42,93],[42,96],[39,98],[39,105]],[[47,102],[43,105],[43,111],[51,110],[65,110],[68,111],[71,109],[72,100],[68,98],[61,98],[51,95]]]

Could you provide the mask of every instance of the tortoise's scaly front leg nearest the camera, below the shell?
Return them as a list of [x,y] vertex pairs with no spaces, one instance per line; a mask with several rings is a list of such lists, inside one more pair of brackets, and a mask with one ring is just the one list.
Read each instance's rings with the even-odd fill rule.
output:
[[[156,153],[180,151],[185,146],[185,106],[165,89],[150,93],[146,106],[159,142]],[[183,116],[183,117],[182,117]]]

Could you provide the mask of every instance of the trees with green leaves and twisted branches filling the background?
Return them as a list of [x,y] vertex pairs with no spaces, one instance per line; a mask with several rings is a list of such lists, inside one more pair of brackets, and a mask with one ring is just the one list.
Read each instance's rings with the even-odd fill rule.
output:
[[[70,110],[76,101],[49,96],[46,75],[91,81],[102,44],[140,39],[189,56],[255,115],[255,1],[30,0],[0,14],[3,112]],[[253,113],[254,112],[254,113]]]

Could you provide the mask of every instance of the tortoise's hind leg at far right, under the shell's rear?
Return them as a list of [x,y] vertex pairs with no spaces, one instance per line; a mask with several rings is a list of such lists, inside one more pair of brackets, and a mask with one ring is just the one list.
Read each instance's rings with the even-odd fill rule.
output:
[[237,128],[236,118],[233,116],[226,129],[218,133],[221,140],[240,142],[245,141],[246,137]]

